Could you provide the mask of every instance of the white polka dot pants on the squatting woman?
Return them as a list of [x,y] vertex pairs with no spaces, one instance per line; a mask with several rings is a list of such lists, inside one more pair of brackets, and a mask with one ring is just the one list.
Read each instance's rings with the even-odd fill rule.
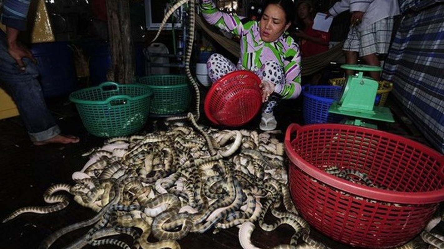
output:
[[[227,73],[241,69],[222,54],[212,54],[206,62],[206,67],[208,68],[208,76],[211,82],[215,82]],[[270,81],[274,84],[285,84],[284,70],[276,61],[266,61],[260,69],[252,71],[261,80]],[[272,94],[264,103],[262,111],[265,113],[273,112],[274,107],[276,107],[280,100],[281,98],[277,93]]]

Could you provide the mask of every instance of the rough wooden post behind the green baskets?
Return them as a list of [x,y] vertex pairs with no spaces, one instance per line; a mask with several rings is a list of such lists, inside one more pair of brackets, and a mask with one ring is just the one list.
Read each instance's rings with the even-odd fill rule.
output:
[[111,69],[107,80],[130,84],[135,76],[135,56],[131,38],[128,0],[107,0]]

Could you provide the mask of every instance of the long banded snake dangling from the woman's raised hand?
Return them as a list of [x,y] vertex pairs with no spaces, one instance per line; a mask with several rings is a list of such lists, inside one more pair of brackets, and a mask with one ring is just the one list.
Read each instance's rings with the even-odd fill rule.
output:
[[[187,43],[186,43],[185,72],[186,72],[186,77],[188,77],[188,79],[192,83],[192,85],[194,87],[194,91],[196,93],[196,112],[194,113],[194,119],[198,120],[200,117],[200,110],[199,110],[200,91],[199,91],[199,87],[198,87],[197,82],[194,80],[193,76],[191,75],[191,70],[190,70],[190,59],[191,59],[191,53],[193,51],[193,42],[194,42],[194,27],[195,27],[194,4],[195,4],[195,0],[179,0],[177,3],[175,3],[173,6],[171,6],[171,8],[168,10],[168,12],[166,12],[165,17],[163,18],[162,23],[160,24],[159,30],[157,31],[157,34],[156,34],[155,38],[151,41],[151,43],[154,42],[159,37],[160,31],[162,31],[168,18],[170,18],[170,16],[174,13],[174,11],[176,11],[180,6],[182,6],[183,4],[186,4],[186,3],[188,3],[188,7],[189,7],[188,8],[188,16],[190,17],[190,27],[189,27],[190,34],[188,35]],[[187,119],[187,115],[170,117],[167,120],[175,120],[175,119]]]

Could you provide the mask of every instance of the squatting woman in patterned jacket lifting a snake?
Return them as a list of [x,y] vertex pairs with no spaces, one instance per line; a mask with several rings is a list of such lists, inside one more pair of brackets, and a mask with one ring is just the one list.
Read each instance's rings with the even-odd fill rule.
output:
[[206,22],[240,36],[241,54],[237,65],[221,54],[207,61],[208,76],[215,82],[234,70],[250,70],[262,80],[262,117],[259,128],[274,130],[274,108],[281,99],[301,94],[301,55],[299,46],[286,32],[294,19],[292,0],[267,0],[260,20],[241,20],[219,11],[212,0],[202,0]]

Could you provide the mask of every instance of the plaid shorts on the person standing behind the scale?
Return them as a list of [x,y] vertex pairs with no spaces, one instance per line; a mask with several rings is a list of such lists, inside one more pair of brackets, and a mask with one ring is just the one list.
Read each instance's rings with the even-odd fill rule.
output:
[[359,52],[359,56],[387,54],[392,30],[393,17],[381,19],[363,31],[359,31],[358,27],[350,27],[343,50]]

